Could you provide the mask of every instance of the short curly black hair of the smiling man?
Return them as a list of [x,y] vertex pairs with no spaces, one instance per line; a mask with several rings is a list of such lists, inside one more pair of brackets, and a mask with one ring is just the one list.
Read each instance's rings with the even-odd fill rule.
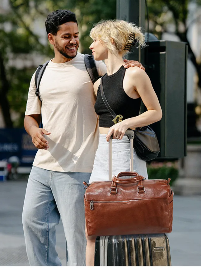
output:
[[[50,13],[45,21],[47,34],[57,35],[59,26],[63,23],[73,21],[77,23],[75,13],[66,9],[58,9]],[[78,24],[77,24],[78,25]]]

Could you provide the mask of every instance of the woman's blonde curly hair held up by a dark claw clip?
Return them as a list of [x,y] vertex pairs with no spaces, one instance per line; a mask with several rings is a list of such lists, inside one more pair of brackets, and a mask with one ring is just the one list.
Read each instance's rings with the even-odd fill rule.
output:
[[122,56],[130,51],[134,44],[138,44],[137,48],[146,46],[142,28],[123,20],[98,22],[91,29],[90,37],[103,41],[111,53]]

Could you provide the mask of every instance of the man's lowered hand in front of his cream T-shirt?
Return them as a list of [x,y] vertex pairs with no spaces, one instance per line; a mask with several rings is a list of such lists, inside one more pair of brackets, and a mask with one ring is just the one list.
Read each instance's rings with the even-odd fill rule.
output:
[[39,128],[36,126],[33,126],[30,130],[30,136],[32,138],[32,142],[38,149],[44,149],[47,150],[49,148],[48,141],[44,138],[43,135],[49,135],[51,134],[44,128]]

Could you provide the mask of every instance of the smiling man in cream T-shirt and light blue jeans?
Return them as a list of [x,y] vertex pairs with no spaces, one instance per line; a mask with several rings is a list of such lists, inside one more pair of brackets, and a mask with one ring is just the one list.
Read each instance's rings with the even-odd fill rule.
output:
[[[42,102],[35,96],[35,74],[31,79],[24,120],[27,133],[40,149],[29,176],[22,214],[26,250],[31,266],[61,266],[55,250],[55,226],[61,216],[67,265],[84,266],[82,182],[89,181],[98,143],[93,84],[84,55],[77,53],[75,14],[57,10],[49,14],[45,26],[54,58],[40,82]],[[96,62],[96,67],[100,76],[105,74],[103,62]],[[44,128],[39,128],[40,114]]]

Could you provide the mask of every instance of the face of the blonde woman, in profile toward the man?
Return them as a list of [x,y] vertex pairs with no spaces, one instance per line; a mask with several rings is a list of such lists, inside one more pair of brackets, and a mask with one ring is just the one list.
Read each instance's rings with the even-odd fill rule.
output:
[[94,39],[89,48],[92,50],[92,55],[96,61],[105,60],[108,58],[106,44],[100,41],[100,39]]

